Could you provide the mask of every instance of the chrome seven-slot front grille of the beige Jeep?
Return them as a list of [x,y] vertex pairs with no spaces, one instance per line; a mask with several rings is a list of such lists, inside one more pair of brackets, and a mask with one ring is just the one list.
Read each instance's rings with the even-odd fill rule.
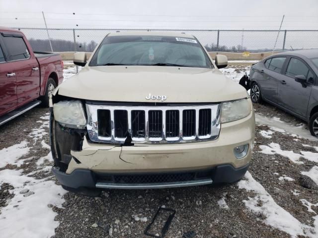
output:
[[178,143],[214,140],[220,132],[219,104],[204,106],[104,106],[86,104],[91,141]]

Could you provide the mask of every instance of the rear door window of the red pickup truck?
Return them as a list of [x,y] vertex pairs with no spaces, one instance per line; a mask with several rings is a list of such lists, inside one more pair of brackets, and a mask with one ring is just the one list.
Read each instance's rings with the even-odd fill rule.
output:
[[23,60],[30,57],[22,37],[5,36],[2,39],[9,52],[9,60]]

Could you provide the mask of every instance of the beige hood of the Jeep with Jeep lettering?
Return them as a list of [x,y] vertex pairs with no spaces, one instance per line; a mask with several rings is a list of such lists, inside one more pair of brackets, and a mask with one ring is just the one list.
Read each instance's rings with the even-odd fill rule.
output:
[[218,69],[170,66],[86,66],[57,90],[112,102],[214,103],[248,96]]

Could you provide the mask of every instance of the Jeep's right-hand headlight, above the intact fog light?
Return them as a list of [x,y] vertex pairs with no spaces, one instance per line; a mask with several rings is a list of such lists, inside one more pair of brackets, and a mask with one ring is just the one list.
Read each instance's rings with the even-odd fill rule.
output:
[[242,99],[222,104],[221,123],[247,117],[251,111],[250,99]]

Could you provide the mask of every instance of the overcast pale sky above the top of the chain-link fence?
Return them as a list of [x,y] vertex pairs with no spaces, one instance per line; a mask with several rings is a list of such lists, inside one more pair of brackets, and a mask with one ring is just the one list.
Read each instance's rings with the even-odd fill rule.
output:
[[42,11],[48,28],[318,29],[318,0],[0,0],[0,25],[43,28]]

